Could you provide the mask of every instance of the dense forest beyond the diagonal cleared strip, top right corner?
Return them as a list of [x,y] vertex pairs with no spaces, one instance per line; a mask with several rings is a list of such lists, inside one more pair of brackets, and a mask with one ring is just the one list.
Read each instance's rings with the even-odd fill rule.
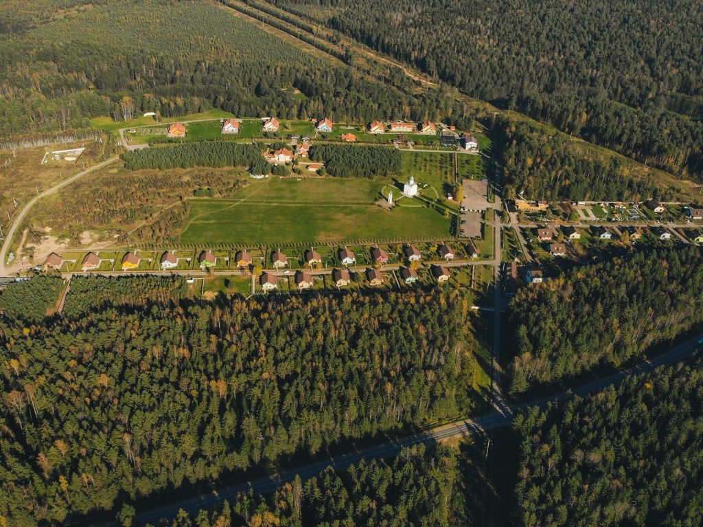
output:
[[695,0],[269,1],[476,99],[703,177],[703,7]]

